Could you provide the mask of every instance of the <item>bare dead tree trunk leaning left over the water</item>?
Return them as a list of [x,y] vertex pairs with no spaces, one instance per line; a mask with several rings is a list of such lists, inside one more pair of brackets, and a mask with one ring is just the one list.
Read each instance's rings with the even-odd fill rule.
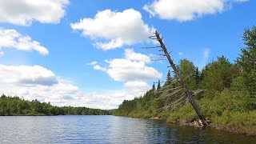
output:
[[190,104],[193,106],[195,112],[198,114],[198,117],[201,119],[202,125],[208,126],[208,122],[206,121],[206,118],[202,115],[201,110],[199,109],[198,105],[194,101],[192,91],[188,89],[188,87],[186,86],[186,83],[182,80],[181,76],[179,75],[178,70],[177,70],[176,66],[174,65],[173,60],[170,58],[170,54],[166,50],[165,44],[162,42],[162,38],[160,37],[160,34],[158,34],[158,31],[155,30],[154,36],[150,36],[150,38],[157,40],[160,43],[160,46],[155,46],[155,48],[157,48],[157,47],[162,48],[162,50],[160,50],[160,51],[164,52],[164,54],[162,54],[162,56],[165,56],[167,58],[168,62],[170,63],[170,67],[174,70],[174,75],[175,75],[176,80],[179,82],[179,84],[182,87],[182,90],[184,90],[184,93],[186,94],[186,97],[188,98]]

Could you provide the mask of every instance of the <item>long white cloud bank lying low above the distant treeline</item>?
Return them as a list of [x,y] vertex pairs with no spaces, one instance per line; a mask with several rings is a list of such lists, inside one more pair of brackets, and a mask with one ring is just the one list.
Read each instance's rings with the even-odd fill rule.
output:
[[124,99],[133,99],[146,92],[145,82],[127,82],[122,90],[82,92],[42,66],[0,65],[0,94],[38,99],[54,106],[86,106],[114,109]]

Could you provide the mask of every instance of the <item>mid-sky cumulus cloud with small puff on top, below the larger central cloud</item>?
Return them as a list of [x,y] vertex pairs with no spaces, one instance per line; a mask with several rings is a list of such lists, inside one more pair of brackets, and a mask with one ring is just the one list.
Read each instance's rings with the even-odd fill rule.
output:
[[162,78],[162,74],[153,67],[146,66],[150,62],[150,57],[145,54],[126,49],[125,58],[114,58],[105,60],[107,67],[94,66],[94,70],[105,71],[117,82],[144,82],[150,79]]

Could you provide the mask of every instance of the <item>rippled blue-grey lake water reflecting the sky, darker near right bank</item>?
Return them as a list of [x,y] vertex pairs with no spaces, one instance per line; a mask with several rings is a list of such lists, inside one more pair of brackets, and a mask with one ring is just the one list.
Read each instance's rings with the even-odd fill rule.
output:
[[256,143],[221,130],[115,116],[0,117],[0,143]]

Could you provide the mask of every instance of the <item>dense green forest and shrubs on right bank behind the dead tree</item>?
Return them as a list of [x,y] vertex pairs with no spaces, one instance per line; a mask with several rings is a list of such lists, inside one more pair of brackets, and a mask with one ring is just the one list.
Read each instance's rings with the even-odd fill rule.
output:
[[[234,62],[218,57],[202,69],[186,59],[177,69],[210,126],[243,134],[256,134],[256,26],[242,36],[245,47]],[[125,100],[115,115],[161,118],[166,122],[194,122],[198,115],[188,103],[174,74],[156,82],[144,96]],[[199,93],[201,92],[201,93]]]

